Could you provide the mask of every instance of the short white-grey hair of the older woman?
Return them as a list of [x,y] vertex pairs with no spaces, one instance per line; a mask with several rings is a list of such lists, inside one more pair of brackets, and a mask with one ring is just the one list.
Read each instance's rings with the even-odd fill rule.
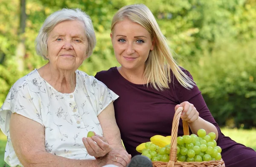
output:
[[93,53],[93,48],[96,45],[96,36],[93,29],[92,20],[90,16],[88,16],[84,11],[79,8],[76,9],[68,9],[64,8],[60,11],[56,11],[49,15],[47,19],[44,21],[44,24],[39,30],[38,36],[35,39],[35,50],[36,53],[44,59],[47,59],[48,56],[48,47],[47,40],[49,33],[52,29],[58,24],[65,20],[80,20],[85,25],[85,34],[88,40],[88,48],[87,48],[87,57]]

